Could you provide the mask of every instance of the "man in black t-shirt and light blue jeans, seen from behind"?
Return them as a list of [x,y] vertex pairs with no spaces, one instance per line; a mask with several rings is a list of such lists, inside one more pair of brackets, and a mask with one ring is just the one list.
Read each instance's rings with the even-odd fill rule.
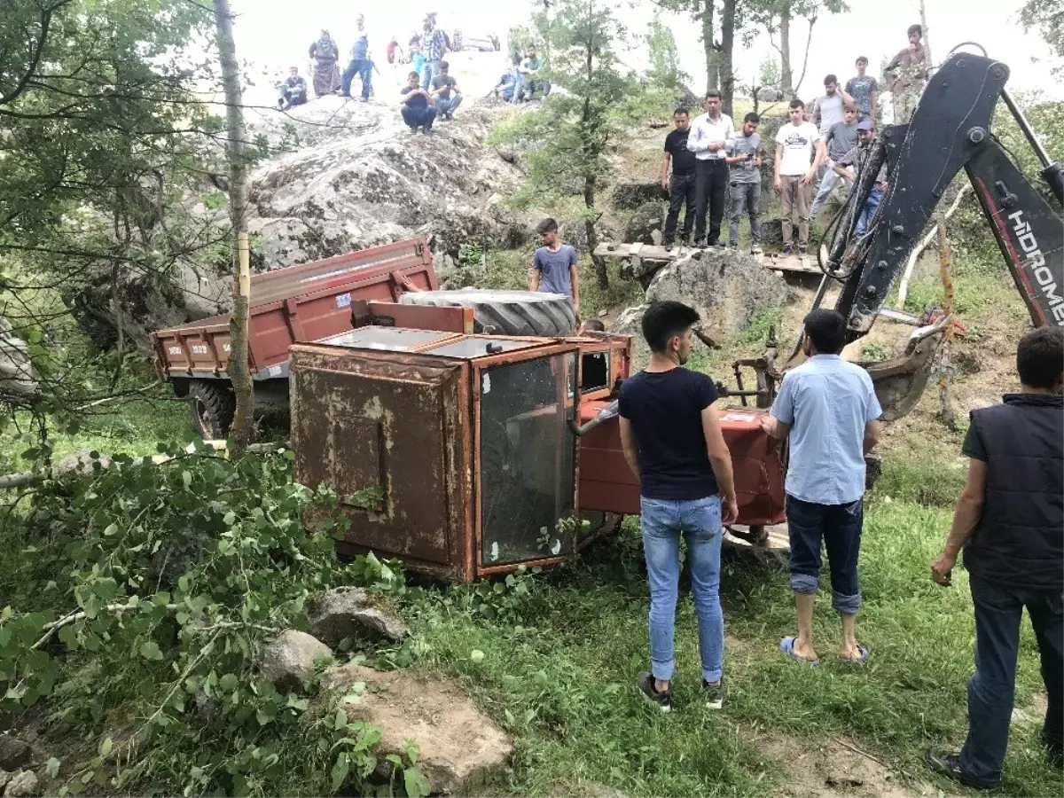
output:
[[672,709],[670,680],[680,579],[680,535],[687,542],[691,587],[698,615],[702,691],[708,709],[725,701],[724,616],[720,612],[721,522],[738,505],[731,455],[713,402],[713,380],[682,368],[698,313],[680,302],[654,302],[643,316],[650,365],[620,387],[620,442],[639,480],[639,526],[650,580],[650,670],[639,674],[643,696]]

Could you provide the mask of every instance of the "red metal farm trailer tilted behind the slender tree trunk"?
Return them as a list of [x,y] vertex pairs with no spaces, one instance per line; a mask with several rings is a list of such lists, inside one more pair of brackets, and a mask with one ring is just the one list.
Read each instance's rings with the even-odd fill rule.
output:
[[[392,323],[402,323],[401,294],[437,288],[432,252],[425,238],[348,252],[251,278],[248,359],[255,380],[256,403],[288,402],[288,347],[327,338],[351,329],[352,302],[385,310]],[[389,303],[387,309],[373,303]],[[439,309],[444,311],[446,309]],[[447,314],[443,314],[447,315]],[[450,317],[452,317],[453,314]],[[155,369],[187,396],[193,421],[206,438],[223,437],[235,409],[227,370],[232,344],[229,315],[192,321],[152,333]],[[453,332],[472,332],[468,329]]]

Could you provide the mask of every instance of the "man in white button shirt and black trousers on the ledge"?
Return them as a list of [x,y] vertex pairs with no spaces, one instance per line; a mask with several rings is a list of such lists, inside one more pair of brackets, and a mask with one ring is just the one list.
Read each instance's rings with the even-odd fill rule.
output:
[[[691,123],[687,149],[695,153],[695,246],[720,247],[720,222],[728,195],[728,143],[735,136],[731,117],[720,113],[720,93],[705,93],[705,113]],[[705,235],[705,212],[710,234]]]

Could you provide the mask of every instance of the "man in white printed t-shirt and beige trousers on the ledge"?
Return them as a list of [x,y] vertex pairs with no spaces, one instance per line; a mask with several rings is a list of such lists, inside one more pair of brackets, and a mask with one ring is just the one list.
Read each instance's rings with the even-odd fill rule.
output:
[[776,190],[780,193],[783,218],[783,254],[794,254],[791,243],[798,226],[798,254],[809,247],[809,205],[816,168],[825,159],[824,137],[812,122],[805,121],[805,103],[791,101],[791,122],[776,134]]

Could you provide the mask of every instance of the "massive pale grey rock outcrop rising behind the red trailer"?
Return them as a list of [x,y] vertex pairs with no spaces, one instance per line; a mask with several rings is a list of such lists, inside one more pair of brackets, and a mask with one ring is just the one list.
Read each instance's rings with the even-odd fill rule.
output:
[[[485,146],[493,109],[467,98],[453,121],[415,136],[389,99],[327,96],[287,114],[248,110],[250,137],[277,153],[250,177],[253,271],[417,235],[429,238],[437,260],[456,256],[470,240],[530,239],[528,219],[500,202],[521,171]],[[186,223],[226,240],[229,207],[215,186],[188,196],[181,212]],[[146,346],[154,330],[227,313],[231,277],[223,248],[181,259],[165,279],[123,273],[117,296],[127,340]],[[117,339],[110,267],[88,270],[83,283],[64,300],[94,343],[110,348]]]

